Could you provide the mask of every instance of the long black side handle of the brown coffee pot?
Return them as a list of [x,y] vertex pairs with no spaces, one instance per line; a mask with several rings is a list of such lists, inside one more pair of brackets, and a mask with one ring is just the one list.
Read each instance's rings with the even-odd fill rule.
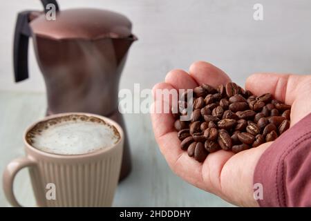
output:
[[31,35],[29,14],[30,11],[24,11],[17,15],[13,48],[15,82],[28,78],[28,39]]

